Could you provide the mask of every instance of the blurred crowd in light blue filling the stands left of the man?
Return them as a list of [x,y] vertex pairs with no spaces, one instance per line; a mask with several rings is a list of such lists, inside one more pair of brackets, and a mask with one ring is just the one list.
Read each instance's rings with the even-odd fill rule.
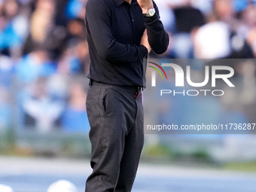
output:
[[87,133],[84,4],[0,1],[0,130]]

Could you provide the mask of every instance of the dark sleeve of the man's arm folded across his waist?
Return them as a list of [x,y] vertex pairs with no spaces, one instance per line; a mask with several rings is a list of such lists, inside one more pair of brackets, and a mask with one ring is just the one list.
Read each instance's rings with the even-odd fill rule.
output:
[[111,29],[111,6],[108,1],[88,1],[85,19],[87,33],[102,59],[110,62],[135,62],[147,56],[148,50],[143,45],[116,41]]

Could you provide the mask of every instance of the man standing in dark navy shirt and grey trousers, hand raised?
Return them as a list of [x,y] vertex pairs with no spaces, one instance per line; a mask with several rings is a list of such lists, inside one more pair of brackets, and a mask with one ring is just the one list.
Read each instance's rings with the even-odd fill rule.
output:
[[165,52],[169,36],[152,0],[88,0],[85,23],[93,168],[85,190],[131,191],[144,141],[143,59]]

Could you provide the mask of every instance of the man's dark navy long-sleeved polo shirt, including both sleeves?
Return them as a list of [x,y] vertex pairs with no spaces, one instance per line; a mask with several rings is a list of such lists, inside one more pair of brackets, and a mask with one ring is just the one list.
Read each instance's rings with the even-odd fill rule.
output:
[[148,41],[155,53],[164,53],[169,36],[163,29],[157,5],[156,14],[145,17],[136,0],[88,0],[85,24],[90,53],[88,78],[105,84],[145,85],[148,55],[140,45],[147,28]]

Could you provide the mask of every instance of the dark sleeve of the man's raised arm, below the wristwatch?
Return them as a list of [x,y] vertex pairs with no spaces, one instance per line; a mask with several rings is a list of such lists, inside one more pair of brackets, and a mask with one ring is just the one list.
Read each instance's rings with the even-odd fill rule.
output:
[[152,50],[157,54],[164,53],[169,45],[169,35],[163,28],[163,23],[160,20],[159,10],[154,3],[156,14],[153,17],[144,17],[145,26],[148,33],[148,42]]

